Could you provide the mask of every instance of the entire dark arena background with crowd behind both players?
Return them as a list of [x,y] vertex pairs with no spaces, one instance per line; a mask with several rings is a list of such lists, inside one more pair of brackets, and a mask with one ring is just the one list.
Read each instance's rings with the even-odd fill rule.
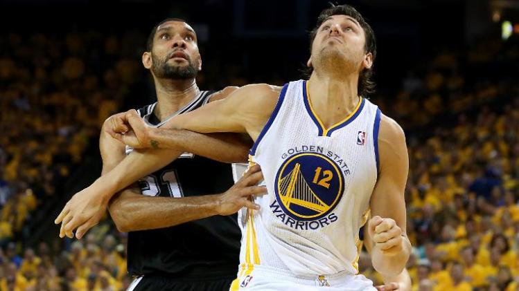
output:
[[[519,1],[346,3],[378,38],[371,100],[407,135],[414,288],[516,290]],[[308,31],[328,6],[0,0],[0,290],[125,290],[130,282],[125,234],[109,218],[82,241],[58,238],[53,219],[99,176],[103,120],[155,100],[141,64],[155,24],[178,17],[195,28],[202,89],[283,84],[302,77]],[[361,263],[379,282],[369,260]]]

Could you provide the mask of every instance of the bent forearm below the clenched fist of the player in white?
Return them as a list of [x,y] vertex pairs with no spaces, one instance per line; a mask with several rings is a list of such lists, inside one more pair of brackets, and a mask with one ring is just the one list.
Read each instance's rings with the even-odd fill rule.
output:
[[371,263],[382,278],[389,279],[403,272],[410,254],[411,243],[407,236],[403,236],[400,252],[384,251],[380,247],[372,246]]

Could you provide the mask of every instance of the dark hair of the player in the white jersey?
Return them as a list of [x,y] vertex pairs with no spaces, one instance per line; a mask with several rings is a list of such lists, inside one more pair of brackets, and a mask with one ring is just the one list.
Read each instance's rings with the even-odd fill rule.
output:
[[[369,24],[364,20],[364,17],[358,12],[355,8],[349,5],[340,5],[335,6],[334,4],[331,4],[330,8],[327,8],[323,10],[319,17],[317,17],[317,24],[315,25],[315,28],[313,28],[312,31],[310,31],[310,53],[312,53],[312,44],[315,39],[315,35],[317,35],[317,30],[319,29],[319,26],[323,24],[328,17],[331,17],[333,15],[346,15],[349,16],[360,24],[360,27],[362,27],[362,30],[364,30],[364,34],[366,35],[366,44],[364,45],[364,49],[373,55],[373,62],[375,62],[375,57],[377,54],[377,44],[375,39],[375,32],[373,32],[373,29]],[[313,68],[308,68],[307,75],[310,77],[310,74],[313,72]],[[360,72],[359,75],[359,83],[358,83],[358,93],[359,95],[366,96],[369,93],[375,92],[375,82],[371,80],[371,75],[373,75],[373,67],[371,68],[364,68],[362,72]]]

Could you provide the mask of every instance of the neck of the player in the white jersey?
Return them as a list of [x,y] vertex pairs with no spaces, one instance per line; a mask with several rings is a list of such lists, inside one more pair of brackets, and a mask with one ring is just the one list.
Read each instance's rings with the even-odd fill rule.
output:
[[344,120],[358,105],[358,74],[337,78],[313,73],[310,76],[310,101],[326,128]]

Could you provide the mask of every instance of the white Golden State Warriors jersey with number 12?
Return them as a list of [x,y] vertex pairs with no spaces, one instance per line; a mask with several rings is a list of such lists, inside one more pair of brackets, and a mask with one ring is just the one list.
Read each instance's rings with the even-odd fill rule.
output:
[[307,82],[283,87],[251,149],[268,194],[261,210],[242,209],[238,276],[254,265],[295,276],[358,272],[359,229],[378,173],[380,110],[364,98],[342,122],[324,128]]

